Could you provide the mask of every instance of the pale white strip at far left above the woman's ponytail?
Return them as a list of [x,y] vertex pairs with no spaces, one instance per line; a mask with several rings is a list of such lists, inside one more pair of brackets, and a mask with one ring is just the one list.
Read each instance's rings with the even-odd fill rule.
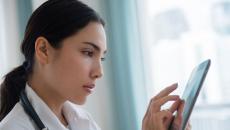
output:
[[1,1],[0,76],[21,63],[17,0]]

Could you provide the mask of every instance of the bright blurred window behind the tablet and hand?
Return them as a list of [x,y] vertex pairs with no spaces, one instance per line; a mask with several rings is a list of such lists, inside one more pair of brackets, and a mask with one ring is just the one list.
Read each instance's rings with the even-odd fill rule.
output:
[[179,83],[176,93],[182,94],[195,65],[210,58],[210,71],[191,122],[196,130],[229,129],[230,2],[139,2],[149,99],[174,82]]

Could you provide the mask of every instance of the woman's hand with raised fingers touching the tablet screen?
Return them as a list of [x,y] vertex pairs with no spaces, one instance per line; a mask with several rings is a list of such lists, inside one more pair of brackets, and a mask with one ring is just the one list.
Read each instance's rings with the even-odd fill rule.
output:
[[[169,95],[177,88],[177,84],[173,84],[154,98],[151,99],[149,107],[142,121],[142,130],[167,130],[173,118],[173,113],[180,105],[180,98],[178,95]],[[168,101],[175,101],[168,110],[161,110],[161,106]],[[178,119],[179,121],[181,119]]]

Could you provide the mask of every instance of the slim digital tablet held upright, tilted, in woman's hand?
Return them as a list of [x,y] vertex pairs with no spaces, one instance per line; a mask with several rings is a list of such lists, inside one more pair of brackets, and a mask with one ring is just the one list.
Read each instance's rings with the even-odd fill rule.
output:
[[[184,110],[182,113],[183,120],[182,120],[181,130],[184,130],[186,128],[187,122],[192,113],[194,104],[199,95],[200,89],[207,75],[210,64],[211,64],[210,59],[203,61],[202,63],[200,63],[198,66],[196,66],[193,69],[189,77],[189,80],[187,82],[187,85],[185,87],[185,90],[182,96],[182,99],[185,101],[185,106],[184,106]],[[172,130],[173,124],[174,124],[174,121],[172,121],[171,123],[170,130]]]

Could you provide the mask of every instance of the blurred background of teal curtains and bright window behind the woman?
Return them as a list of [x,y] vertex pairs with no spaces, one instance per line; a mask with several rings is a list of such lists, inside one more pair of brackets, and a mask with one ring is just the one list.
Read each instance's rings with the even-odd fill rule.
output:
[[[182,95],[193,67],[208,58],[192,129],[230,129],[230,0],[82,1],[106,21],[105,75],[83,106],[103,130],[140,130],[149,100],[175,82]],[[43,2],[0,0],[0,81],[24,61],[25,26]]]

